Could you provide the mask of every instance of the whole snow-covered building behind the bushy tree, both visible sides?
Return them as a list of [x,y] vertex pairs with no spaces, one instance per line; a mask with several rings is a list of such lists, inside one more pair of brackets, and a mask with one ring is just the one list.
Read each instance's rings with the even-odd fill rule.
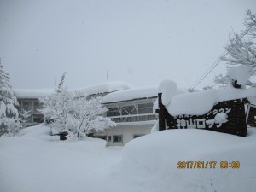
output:
[[[14,90],[20,103],[19,111],[30,111],[27,125],[42,123],[44,116],[38,109],[43,108],[39,98],[49,96],[54,90]],[[70,91],[79,91],[84,96],[102,96],[102,104],[108,108],[104,116],[112,119],[116,126],[105,131],[93,133],[93,137],[105,139],[108,146],[122,146],[135,137],[150,133],[157,120],[154,101],[157,86],[132,88],[125,82],[107,82]]]

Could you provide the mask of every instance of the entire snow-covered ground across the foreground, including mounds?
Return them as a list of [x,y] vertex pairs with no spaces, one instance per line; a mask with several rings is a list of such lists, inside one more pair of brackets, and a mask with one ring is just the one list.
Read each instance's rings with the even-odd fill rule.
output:
[[[42,125],[0,137],[3,192],[256,191],[256,129],[247,137],[168,130],[137,137],[124,148],[105,141],[59,141]],[[216,161],[215,169],[178,169],[178,161]],[[221,161],[239,161],[221,169]]]

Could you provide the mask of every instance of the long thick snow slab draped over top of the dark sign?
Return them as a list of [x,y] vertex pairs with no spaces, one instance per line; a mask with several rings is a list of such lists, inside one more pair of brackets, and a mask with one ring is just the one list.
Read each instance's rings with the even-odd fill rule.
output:
[[223,90],[211,89],[172,96],[172,101],[166,108],[173,116],[179,114],[200,115],[210,111],[213,105],[218,102],[255,96],[256,88],[235,89],[228,87]]

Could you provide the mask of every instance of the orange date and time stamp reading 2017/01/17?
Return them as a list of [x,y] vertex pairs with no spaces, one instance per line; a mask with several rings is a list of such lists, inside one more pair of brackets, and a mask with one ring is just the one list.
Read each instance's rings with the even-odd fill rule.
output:
[[[215,169],[217,161],[178,161],[178,169]],[[239,161],[220,161],[219,167],[221,169],[238,169],[240,167]]]

